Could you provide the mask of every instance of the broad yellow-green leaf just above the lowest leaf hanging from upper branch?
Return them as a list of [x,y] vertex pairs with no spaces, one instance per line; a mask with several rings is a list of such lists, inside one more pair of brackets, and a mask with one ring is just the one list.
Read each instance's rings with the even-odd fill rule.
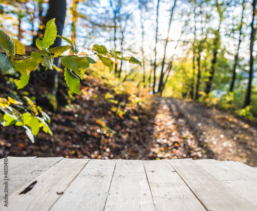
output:
[[74,71],[81,79],[84,77],[86,68],[89,67],[87,58],[78,56],[64,56],[62,58],[62,64]]

